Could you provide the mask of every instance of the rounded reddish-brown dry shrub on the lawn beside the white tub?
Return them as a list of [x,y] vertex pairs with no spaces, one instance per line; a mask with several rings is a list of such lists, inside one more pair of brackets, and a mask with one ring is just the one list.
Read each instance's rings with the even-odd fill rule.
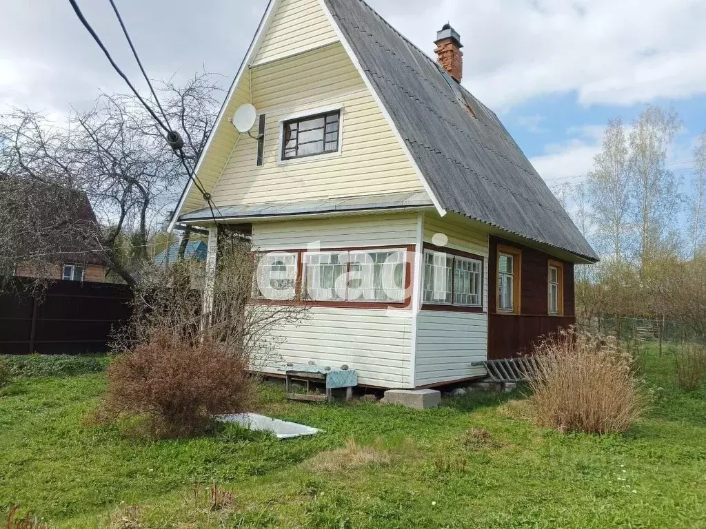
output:
[[246,411],[254,384],[236,349],[160,331],[109,365],[104,416],[144,417],[157,437],[186,437],[207,430],[213,415]]

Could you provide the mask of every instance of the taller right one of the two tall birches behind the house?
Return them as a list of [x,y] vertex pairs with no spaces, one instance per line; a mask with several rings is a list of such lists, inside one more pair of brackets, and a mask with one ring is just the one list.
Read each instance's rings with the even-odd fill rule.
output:
[[650,105],[635,120],[630,133],[628,166],[640,274],[650,259],[674,253],[678,244],[675,228],[681,197],[676,177],[666,169],[666,159],[680,128],[674,109],[665,111]]

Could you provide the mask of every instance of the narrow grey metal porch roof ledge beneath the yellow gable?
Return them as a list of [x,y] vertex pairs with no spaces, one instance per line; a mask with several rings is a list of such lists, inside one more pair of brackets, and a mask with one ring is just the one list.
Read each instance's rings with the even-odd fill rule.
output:
[[[270,202],[268,204],[223,206],[218,208],[219,219],[255,219],[266,217],[289,217],[294,215],[323,214],[336,212],[405,209],[409,207],[433,207],[433,202],[424,191],[406,191],[384,195],[365,195],[329,200],[307,200],[305,202]],[[210,208],[198,209],[181,215],[182,222],[213,219]]]

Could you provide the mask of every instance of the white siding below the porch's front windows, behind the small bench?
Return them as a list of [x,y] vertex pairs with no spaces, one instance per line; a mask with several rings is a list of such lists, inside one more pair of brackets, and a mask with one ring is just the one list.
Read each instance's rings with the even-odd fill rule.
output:
[[[275,354],[282,363],[347,364],[357,370],[359,384],[410,385],[411,311],[316,307],[272,334],[281,340]],[[265,371],[277,372],[273,366]]]

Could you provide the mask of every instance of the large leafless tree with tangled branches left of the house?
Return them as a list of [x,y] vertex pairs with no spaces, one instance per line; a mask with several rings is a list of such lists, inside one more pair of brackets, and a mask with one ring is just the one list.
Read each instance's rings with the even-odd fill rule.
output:
[[[88,195],[99,229],[82,229],[85,245],[100,250],[112,271],[136,286],[148,261],[150,238],[177,200],[220,109],[220,76],[195,75],[185,85],[162,83],[160,99],[172,128],[184,137],[183,161],[167,147],[162,131],[136,99],[101,95],[94,108],[75,111],[61,123],[28,109],[0,115],[0,173],[25,182],[51,183]],[[27,214],[0,203],[7,233],[24,229]],[[17,213],[17,212],[14,212]],[[26,226],[25,226],[26,227]],[[33,241],[35,258],[44,255]],[[11,250],[0,260],[18,260]]]

